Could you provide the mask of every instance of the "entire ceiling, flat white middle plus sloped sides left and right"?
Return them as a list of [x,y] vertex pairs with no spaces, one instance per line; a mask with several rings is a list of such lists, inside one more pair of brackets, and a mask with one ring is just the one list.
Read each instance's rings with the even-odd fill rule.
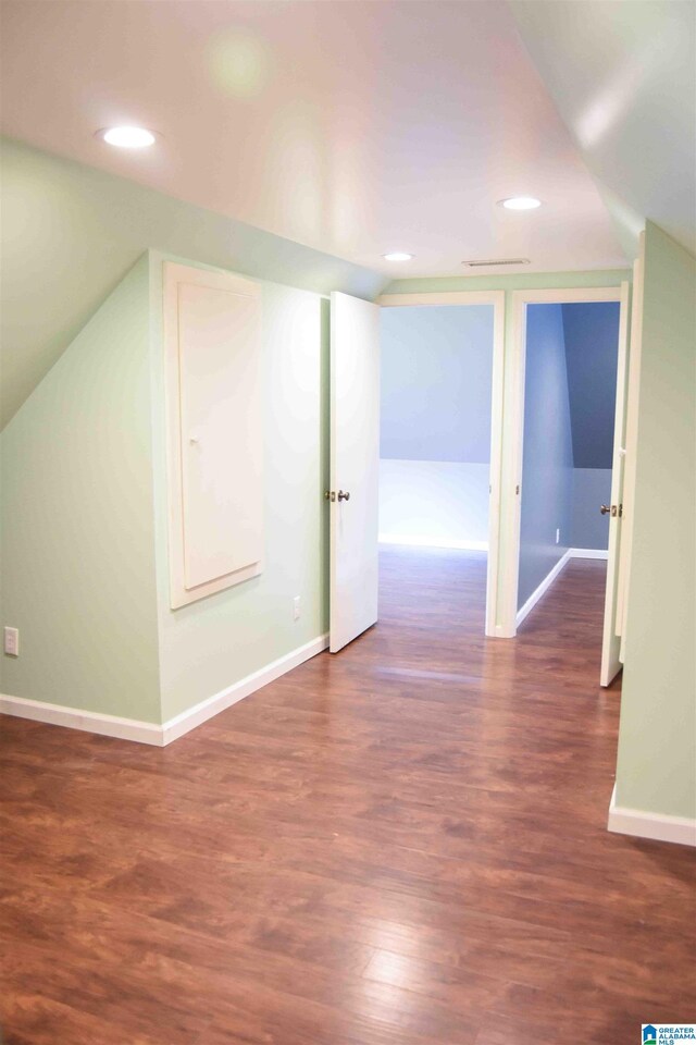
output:
[[[147,247],[364,297],[471,257],[623,268],[646,216],[693,249],[694,10],[5,0],[3,423]],[[120,122],[162,137],[94,137]]]

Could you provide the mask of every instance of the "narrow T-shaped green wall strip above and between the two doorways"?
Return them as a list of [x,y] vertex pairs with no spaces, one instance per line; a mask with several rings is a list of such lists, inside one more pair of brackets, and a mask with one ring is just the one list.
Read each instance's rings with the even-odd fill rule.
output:
[[[512,366],[513,343],[513,291],[529,291],[544,287],[579,287],[579,286],[619,286],[624,280],[631,280],[629,270],[611,269],[592,272],[530,272],[520,275],[477,275],[450,276],[448,279],[397,280],[390,283],[385,294],[424,294],[444,293],[449,291],[505,291],[505,352],[504,352],[504,416],[510,417],[514,413],[514,368]],[[514,487],[514,440],[517,434],[510,426],[504,428],[502,433],[502,472],[500,477],[500,511],[501,518],[511,518],[515,511]],[[502,624],[505,578],[510,571],[518,568],[518,564],[510,557],[508,542],[504,541],[500,550],[500,568],[498,580],[498,619]]]

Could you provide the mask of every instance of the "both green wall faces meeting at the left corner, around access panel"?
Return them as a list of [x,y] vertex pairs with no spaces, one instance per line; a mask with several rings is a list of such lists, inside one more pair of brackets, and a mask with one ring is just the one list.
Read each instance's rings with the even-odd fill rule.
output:
[[170,608],[164,257],[144,255],[2,434],[2,623],[21,655],[0,691],[158,723],[327,628],[328,303],[269,282],[263,571]]

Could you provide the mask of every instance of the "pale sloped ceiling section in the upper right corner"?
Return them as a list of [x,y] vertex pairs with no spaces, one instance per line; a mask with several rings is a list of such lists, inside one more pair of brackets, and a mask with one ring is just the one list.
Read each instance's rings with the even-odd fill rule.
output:
[[696,4],[509,7],[627,256],[646,219],[696,254]]

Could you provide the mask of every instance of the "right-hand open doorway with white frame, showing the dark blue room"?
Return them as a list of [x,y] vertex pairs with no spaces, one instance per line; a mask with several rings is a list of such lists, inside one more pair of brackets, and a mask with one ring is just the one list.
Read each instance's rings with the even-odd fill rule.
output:
[[[621,525],[627,287],[520,295],[518,576],[514,627],[569,560],[607,573],[600,680],[620,669],[616,575]],[[586,299],[588,298],[588,299]],[[605,565],[606,564],[606,565]]]

